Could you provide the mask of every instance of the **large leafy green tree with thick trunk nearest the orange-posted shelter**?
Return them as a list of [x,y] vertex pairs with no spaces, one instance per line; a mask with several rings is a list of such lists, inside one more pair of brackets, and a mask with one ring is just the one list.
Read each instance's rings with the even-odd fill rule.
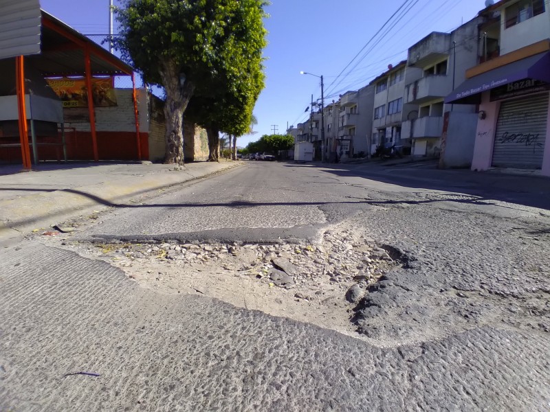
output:
[[[116,46],[146,82],[164,87],[164,160],[181,165],[183,113],[193,95],[231,104],[257,88],[259,83],[254,76],[263,87],[263,73],[259,76],[253,65],[259,66],[261,72],[266,3],[264,0],[122,1],[122,7],[115,8],[121,33]],[[247,79],[251,84],[255,82],[255,87],[247,87]],[[248,108],[250,101],[257,99],[254,95],[240,106]],[[221,120],[225,126],[224,119]]]

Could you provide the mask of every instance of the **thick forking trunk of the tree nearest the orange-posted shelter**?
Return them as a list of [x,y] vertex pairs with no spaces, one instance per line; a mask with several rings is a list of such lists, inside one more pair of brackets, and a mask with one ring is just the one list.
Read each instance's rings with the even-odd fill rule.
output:
[[183,117],[187,104],[195,91],[192,82],[179,83],[179,70],[173,62],[161,61],[159,74],[166,91],[164,115],[166,116],[166,134],[164,135],[166,152],[164,163],[184,165]]

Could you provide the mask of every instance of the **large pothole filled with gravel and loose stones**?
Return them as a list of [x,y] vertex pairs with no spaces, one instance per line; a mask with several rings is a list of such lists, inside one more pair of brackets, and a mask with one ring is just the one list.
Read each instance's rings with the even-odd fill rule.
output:
[[316,244],[79,243],[160,293],[199,294],[358,337],[354,308],[404,253],[340,226]]

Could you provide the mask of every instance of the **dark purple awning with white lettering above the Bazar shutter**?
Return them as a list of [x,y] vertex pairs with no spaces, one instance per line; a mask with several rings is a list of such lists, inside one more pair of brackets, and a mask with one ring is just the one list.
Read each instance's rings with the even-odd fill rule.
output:
[[479,104],[481,93],[523,79],[550,83],[550,52],[536,54],[463,82],[445,98],[445,103]]

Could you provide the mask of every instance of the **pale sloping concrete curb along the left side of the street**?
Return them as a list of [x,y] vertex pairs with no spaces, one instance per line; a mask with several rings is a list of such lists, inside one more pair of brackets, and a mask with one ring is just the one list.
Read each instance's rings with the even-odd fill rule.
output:
[[[137,196],[204,179],[241,166],[241,163],[203,163],[193,170],[146,176],[124,176],[114,181],[0,201],[0,240],[49,228],[69,218],[120,205]],[[213,170],[212,170],[213,169]],[[19,233],[17,233],[19,232]]]

